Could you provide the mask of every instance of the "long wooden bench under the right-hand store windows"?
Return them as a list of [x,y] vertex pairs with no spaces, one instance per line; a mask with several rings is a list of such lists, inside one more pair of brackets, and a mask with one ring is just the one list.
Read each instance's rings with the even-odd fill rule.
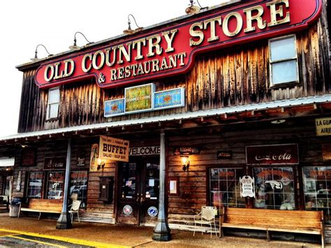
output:
[[219,236],[222,228],[244,228],[286,233],[307,233],[321,235],[324,247],[323,211],[265,210],[224,207],[220,216]]

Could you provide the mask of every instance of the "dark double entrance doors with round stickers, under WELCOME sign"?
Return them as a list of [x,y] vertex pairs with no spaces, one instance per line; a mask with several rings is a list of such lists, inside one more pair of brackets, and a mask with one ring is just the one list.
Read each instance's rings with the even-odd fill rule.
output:
[[134,158],[119,163],[117,223],[146,224],[159,211],[159,158]]

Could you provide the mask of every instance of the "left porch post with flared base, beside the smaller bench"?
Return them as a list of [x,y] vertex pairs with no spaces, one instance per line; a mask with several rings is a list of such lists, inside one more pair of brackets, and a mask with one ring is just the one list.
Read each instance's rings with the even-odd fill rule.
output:
[[70,182],[70,164],[71,164],[71,138],[68,139],[68,149],[66,153],[66,176],[64,180],[64,202],[62,205],[62,212],[57,220],[57,229],[71,228],[71,217],[68,212],[68,192]]

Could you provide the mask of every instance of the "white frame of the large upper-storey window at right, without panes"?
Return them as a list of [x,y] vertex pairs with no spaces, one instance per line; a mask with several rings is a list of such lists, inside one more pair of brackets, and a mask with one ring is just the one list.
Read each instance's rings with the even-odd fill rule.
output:
[[[287,59],[279,59],[272,61],[272,48],[271,48],[271,43],[273,41],[280,41],[280,40],[285,40],[286,38],[292,38],[294,37],[294,53],[295,57],[292,58],[287,58]],[[297,36],[295,34],[289,34],[287,36],[280,36],[277,38],[270,38],[268,40],[268,48],[269,48],[269,71],[270,71],[270,88],[277,88],[277,87],[284,87],[284,86],[297,86],[300,83],[300,75],[299,75],[299,65],[298,65],[298,56],[297,56]],[[294,81],[288,81],[288,82],[279,82],[279,83],[274,83],[272,82],[272,65],[281,63],[281,62],[286,62],[286,61],[296,61],[296,74],[297,77]]]

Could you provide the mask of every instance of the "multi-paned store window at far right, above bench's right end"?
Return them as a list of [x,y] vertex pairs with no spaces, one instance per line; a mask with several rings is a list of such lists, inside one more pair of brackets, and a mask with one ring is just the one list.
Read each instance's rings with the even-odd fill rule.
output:
[[304,209],[323,210],[325,221],[330,224],[331,166],[307,166],[302,168],[304,183]]

